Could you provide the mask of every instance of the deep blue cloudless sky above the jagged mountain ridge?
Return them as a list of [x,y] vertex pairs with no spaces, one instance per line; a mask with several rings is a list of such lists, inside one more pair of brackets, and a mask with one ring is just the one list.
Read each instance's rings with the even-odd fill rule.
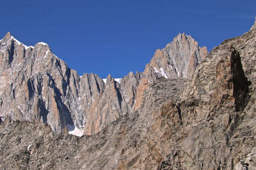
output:
[[255,0],[1,0],[0,36],[44,41],[79,74],[115,78],[143,71],[179,32],[212,49],[248,31]]

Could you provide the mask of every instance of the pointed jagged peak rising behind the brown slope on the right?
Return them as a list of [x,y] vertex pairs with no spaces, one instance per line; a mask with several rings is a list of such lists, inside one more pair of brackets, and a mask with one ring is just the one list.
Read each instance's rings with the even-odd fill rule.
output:
[[149,80],[164,78],[191,78],[196,66],[204,59],[207,48],[200,48],[195,39],[179,34],[163,50],[156,50],[143,72]]

